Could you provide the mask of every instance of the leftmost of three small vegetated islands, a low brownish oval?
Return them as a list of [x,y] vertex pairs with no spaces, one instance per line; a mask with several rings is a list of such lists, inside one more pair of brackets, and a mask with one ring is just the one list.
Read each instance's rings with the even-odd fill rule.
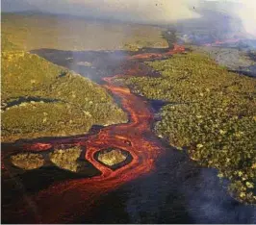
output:
[[20,153],[11,157],[11,162],[22,169],[36,169],[44,164],[44,159],[36,153]]

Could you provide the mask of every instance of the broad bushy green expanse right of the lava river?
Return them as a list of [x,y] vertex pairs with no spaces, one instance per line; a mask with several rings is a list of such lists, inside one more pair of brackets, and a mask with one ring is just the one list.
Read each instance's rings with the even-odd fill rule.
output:
[[255,204],[256,80],[195,53],[148,64],[162,77],[126,83],[141,95],[169,102],[155,124],[157,135],[188,149],[199,164],[217,168],[238,200]]

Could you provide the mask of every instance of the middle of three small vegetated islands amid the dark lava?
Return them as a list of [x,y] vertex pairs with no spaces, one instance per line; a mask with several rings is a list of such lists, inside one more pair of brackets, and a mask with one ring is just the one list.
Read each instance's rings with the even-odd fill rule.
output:
[[85,165],[85,162],[77,162],[81,152],[82,149],[80,147],[55,149],[53,153],[49,154],[49,157],[51,162],[57,166],[72,172],[78,172]]

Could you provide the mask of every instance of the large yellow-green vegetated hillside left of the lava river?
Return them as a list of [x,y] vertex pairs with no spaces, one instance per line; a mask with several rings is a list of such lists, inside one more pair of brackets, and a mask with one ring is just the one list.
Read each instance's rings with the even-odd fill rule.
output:
[[2,141],[79,135],[93,124],[127,121],[102,87],[9,46],[2,45]]

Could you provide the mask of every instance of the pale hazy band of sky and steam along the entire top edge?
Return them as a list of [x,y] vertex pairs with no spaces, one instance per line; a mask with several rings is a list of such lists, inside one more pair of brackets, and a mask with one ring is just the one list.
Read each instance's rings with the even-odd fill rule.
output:
[[14,11],[22,8],[24,11],[27,7],[28,10],[37,9],[48,13],[166,24],[200,17],[193,7],[197,9],[206,2],[216,2],[219,9],[224,8],[225,13],[240,17],[245,31],[256,36],[255,0],[3,0],[2,3],[6,11],[12,10],[8,8],[14,8]]

